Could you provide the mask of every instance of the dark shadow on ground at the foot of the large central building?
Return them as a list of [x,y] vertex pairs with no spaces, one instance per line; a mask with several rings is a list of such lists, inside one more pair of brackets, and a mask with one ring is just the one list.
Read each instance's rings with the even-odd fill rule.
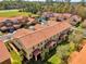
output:
[[53,48],[52,50],[50,50],[49,52],[46,53],[45,55],[45,60],[41,61],[41,60],[38,60],[38,61],[35,61],[35,60],[30,60],[30,61],[24,61],[25,63],[23,64],[52,64],[51,62],[48,62],[48,59],[50,59],[53,54],[56,54],[56,48]]

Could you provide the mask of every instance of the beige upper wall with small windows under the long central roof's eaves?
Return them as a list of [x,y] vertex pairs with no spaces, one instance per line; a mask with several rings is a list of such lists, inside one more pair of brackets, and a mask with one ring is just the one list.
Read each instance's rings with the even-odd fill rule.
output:
[[[62,31],[62,34],[66,35],[66,33],[67,33],[69,29],[70,29],[70,28],[67,28],[66,30]],[[60,33],[60,34],[61,34],[61,33]],[[38,49],[41,49],[41,48],[44,49],[44,50],[41,51],[41,55],[44,55],[44,54],[45,54],[44,52],[46,52],[46,50],[45,50],[45,44],[46,44],[49,40],[51,40],[51,39],[58,39],[59,36],[60,36],[60,34],[53,35],[51,38],[46,39],[46,40],[41,41],[39,44],[34,46],[34,49],[33,49],[33,47],[29,48],[29,49],[25,49],[25,47],[22,44],[23,50],[26,52],[26,57],[27,57],[28,60],[32,59],[32,57],[33,57],[33,51],[34,51],[35,49],[37,49],[37,48],[38,48]],[[21,43],[21,41],[20,41],[20,43]],[[48,51],[48,49],[47,49],[47,51]]]

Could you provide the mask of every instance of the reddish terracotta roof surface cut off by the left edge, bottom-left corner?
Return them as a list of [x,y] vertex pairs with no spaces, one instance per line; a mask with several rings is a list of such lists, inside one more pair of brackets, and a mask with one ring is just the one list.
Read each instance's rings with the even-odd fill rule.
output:
[[0,40],[0,63],[10,59],[10,53],[7,50],[4,43]]

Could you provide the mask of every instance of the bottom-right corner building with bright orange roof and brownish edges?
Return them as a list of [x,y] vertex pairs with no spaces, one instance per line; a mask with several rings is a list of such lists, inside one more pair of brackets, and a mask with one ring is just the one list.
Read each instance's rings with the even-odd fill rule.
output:
[[86,40],[82,41],[81,51],[74,51],[69,59],[69,64],[86,64]]

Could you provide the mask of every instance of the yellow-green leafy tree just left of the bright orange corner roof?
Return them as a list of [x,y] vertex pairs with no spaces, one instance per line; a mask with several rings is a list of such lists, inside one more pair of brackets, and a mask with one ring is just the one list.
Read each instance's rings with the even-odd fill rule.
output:
[[74,42],[58,46],[57,55],[59,59],[61,59],[62,64],[67,64],[67,59],[74,50],[75,50]]

